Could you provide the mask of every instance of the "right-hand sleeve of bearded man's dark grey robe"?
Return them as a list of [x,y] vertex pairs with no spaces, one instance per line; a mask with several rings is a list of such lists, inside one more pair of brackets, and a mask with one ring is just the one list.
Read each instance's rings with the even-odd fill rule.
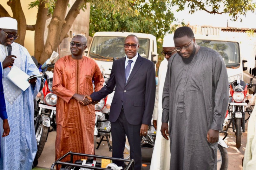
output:
[[220,54],[216,54],[212,61],[212,85],[214,86],[214,115],[211,129],[222,130],[228,107],[229,83],[226,65]]

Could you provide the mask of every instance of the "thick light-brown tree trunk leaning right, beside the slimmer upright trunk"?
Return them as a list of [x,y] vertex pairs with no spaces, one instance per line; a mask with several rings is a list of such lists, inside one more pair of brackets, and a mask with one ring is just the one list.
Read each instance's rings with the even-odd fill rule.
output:
[[52,54],[52,51],[59,45],[59,38],[61,34],[61,28],[65,23],[65,15],[67,11],[68,0],[57,0],[55,9],[52,15],[52,20],[48,27],[48,36],[46,39],[44,50],[42,51],[40,62],[44,63],[47,58]]

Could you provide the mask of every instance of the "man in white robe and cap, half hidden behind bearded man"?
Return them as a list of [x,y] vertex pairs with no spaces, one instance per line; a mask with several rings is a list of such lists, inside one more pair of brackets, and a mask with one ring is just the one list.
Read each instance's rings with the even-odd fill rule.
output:
[[[162,125],[162,94],[164,88],[165,76],[168,68],[168,61],[172,55],[177,52],[173,42],[173,35],[169,34],[164,37],[163,51],[165,57],[158,69],[158,84],[156,87],[155,107],[153,111],[153,125],[157,130],[155,147],[153,150],[150,170],[170,169],[170,140],[164,139],[160,129]],[[160,102],[158,100],[160,99]],[[158,127],[158,128],[157,128]]]

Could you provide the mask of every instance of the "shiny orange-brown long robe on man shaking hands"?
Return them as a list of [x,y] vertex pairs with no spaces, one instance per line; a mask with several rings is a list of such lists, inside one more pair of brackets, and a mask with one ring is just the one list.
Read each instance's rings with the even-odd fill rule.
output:
[[95,91],[99,91],[103,83],[99,66],[91,58],[83,56],[82,59],[75,60],[70,55],[55,63],[52,87],[58,96],[55,159],[68,151],[94,154],[94,105],[81,106],[72,96],[75,93],[90,95],[93,84]]

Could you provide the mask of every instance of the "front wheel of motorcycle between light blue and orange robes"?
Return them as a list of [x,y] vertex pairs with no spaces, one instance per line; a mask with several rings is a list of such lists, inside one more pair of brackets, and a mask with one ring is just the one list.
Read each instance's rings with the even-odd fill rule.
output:
[[40,124],[37,129],[37,132],[35,133],[35,138],[37,140],[37,158],[41,156],[42,150],[44,149],[48,130],[49,130],[49,127],[46,127]]

